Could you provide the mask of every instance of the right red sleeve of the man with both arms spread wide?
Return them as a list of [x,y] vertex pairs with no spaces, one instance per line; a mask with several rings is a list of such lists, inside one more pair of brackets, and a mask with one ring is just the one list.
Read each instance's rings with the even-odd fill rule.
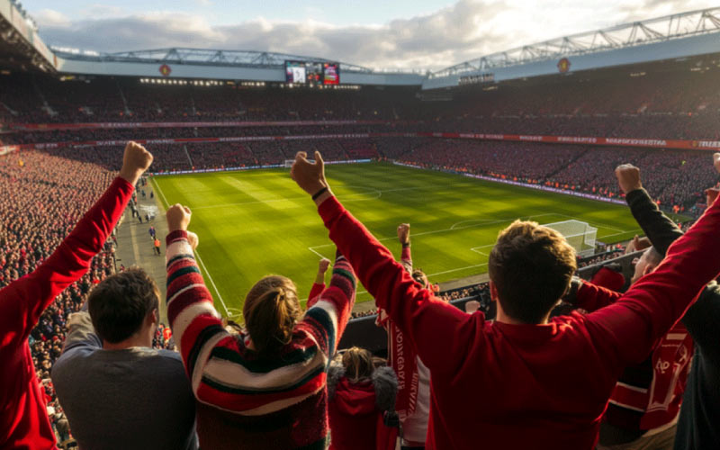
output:
[[586,316],[592,338],[620,366],[640,363],[720,272],[720,202],[668,249],[652,274],[617,302]]

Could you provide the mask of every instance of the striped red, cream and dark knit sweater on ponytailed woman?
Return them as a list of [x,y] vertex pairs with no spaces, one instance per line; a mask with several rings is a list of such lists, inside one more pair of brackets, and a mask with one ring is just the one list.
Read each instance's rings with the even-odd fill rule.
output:
[[184,231],[166,238],[167,318],[198,401],[202,448],[328,446],[329,361],[355,302],[356,278],[339,256],[328,289],[308,305],[275,358],[223,329]]

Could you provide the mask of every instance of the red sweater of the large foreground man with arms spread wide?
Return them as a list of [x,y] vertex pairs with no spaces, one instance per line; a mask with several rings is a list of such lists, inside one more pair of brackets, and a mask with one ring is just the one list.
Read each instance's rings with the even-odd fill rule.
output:
[[[334,197],[330,238],[431,372],[428,449],[590,449],[626,365],[643,361],[720,272],[720,203],[617,302],[546,325],[465,314],[419,288]],[[529,299],[528,299],[529,300]]]

